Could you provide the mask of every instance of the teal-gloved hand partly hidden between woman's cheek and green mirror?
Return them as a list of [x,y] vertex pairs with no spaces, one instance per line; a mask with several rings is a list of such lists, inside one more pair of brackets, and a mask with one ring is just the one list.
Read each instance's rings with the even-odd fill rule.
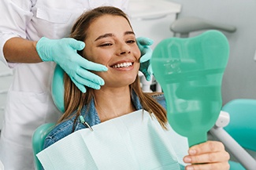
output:
[[139,60],[140,62],[140,67],[139,67],[139,71],[141,71],[147,81],[150,81],[151,79],[151,74],[153,74],[152,71],[152,67],[150,64],[150,58],[152,56],[152,49],[150,49],[150,45],[152,45],[154,43],[153,40],[151,40],[150,38],[143,38],[143,37],[139,37],[136,38],[137,41],[137,45],[139,47],[139,50],[141,52],[141,58]]

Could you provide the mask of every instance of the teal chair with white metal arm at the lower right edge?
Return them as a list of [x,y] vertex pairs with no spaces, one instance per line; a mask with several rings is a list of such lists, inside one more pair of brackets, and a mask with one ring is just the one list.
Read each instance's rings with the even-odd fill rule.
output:
[[231,170],[256,169],[255,122],[256,99],[234,99],[222,107],[222,114],[210,129],[231,154]]

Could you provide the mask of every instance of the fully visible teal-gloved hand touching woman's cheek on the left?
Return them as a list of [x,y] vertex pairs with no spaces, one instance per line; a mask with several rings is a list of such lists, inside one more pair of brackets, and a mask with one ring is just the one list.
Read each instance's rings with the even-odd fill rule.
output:
[[[74,38],[49,39],[41,38],[36,44],[36,51],[43,61],[54,61],[69,75],[76,87],[81,92],[86,92],[84,85],[93,89],[100,89],[104,80],[90,71],[107,71],[102,64],[93,63],[77,54],[82,50],[84,42]],[[87,71],[90,70],[90,71]]]

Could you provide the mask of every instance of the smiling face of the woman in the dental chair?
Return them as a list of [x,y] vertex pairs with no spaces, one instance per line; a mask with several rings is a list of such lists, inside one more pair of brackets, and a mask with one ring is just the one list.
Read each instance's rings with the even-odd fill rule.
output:
[[108,68],[106,72],[95,71],[104,79],[105,87],[122,87],[135,81],[140,51],[132,27],[124,17],[99,17],[89,27],[85,43],[83,56]]

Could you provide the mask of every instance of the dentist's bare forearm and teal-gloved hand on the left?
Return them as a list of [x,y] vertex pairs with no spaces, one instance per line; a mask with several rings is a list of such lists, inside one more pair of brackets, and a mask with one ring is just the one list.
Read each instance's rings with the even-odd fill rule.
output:
[[91,71],[107,71],[107,68],[78,55],[76,51],[82,50],[84,46],[84,42],[76,41],[73,38],[56,40],[41,38],[39,42],[11,38],[4,46],[4,55],[6,60],[14,63],[54,61],[69,74],[81,92],[86,92],[84,85],[93,89],[100,89],[100,85],[104,85],[103,79]]

